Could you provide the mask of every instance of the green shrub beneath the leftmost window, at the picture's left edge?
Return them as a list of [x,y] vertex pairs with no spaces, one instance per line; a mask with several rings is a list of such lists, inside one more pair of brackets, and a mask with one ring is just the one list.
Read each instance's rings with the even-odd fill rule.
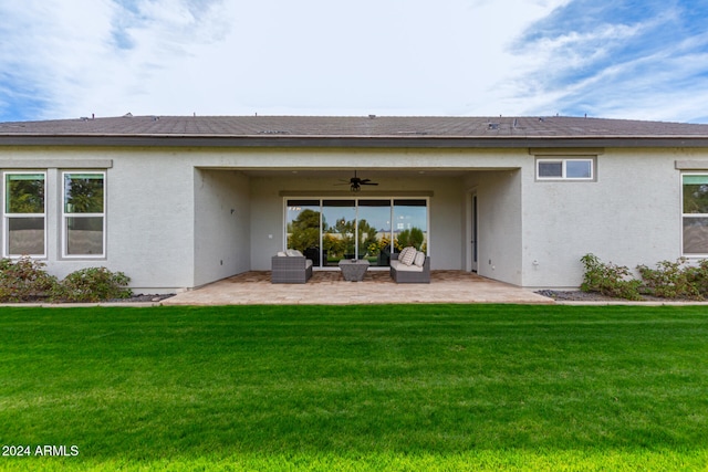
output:
[[44,263],[29,256],[0,260],[0,302],[31,302],[48,298],[58,281],[44,271]]

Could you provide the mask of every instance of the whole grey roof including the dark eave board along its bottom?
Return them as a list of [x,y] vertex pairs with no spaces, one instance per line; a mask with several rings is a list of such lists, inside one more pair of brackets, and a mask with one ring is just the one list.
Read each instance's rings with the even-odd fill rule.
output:
[[708,146],[708,125],[585,117],[132,116],[0,123],[0,145]]

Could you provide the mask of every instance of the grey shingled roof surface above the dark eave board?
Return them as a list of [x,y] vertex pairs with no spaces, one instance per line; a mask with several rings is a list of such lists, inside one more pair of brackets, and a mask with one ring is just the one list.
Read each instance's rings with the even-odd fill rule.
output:
[[122,116],[0,123],[3,135],[708,137],[708,125],[582,117]]

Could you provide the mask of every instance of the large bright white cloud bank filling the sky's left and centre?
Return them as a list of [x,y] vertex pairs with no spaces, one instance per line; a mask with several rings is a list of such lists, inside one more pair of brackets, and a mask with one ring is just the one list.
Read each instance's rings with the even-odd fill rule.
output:
[[[504,48],[562,0],[28,0],[1,116],[502,113]],[[512,13],[510,13],[512,12]],[[22,24],[20,28],[13,24]],[[34,96],[34,105],[22,91]],[[39,113],[38,113],[39,112]]]

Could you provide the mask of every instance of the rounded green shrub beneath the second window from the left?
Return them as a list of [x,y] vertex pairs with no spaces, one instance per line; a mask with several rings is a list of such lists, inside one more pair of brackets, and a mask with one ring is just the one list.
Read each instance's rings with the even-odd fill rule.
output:
[[123,272],[106,268],[88,268],[72,272],[56,286],[54,297],[64,302],[100,302],[127,298],[133,292],[126,289],[131,279]]

